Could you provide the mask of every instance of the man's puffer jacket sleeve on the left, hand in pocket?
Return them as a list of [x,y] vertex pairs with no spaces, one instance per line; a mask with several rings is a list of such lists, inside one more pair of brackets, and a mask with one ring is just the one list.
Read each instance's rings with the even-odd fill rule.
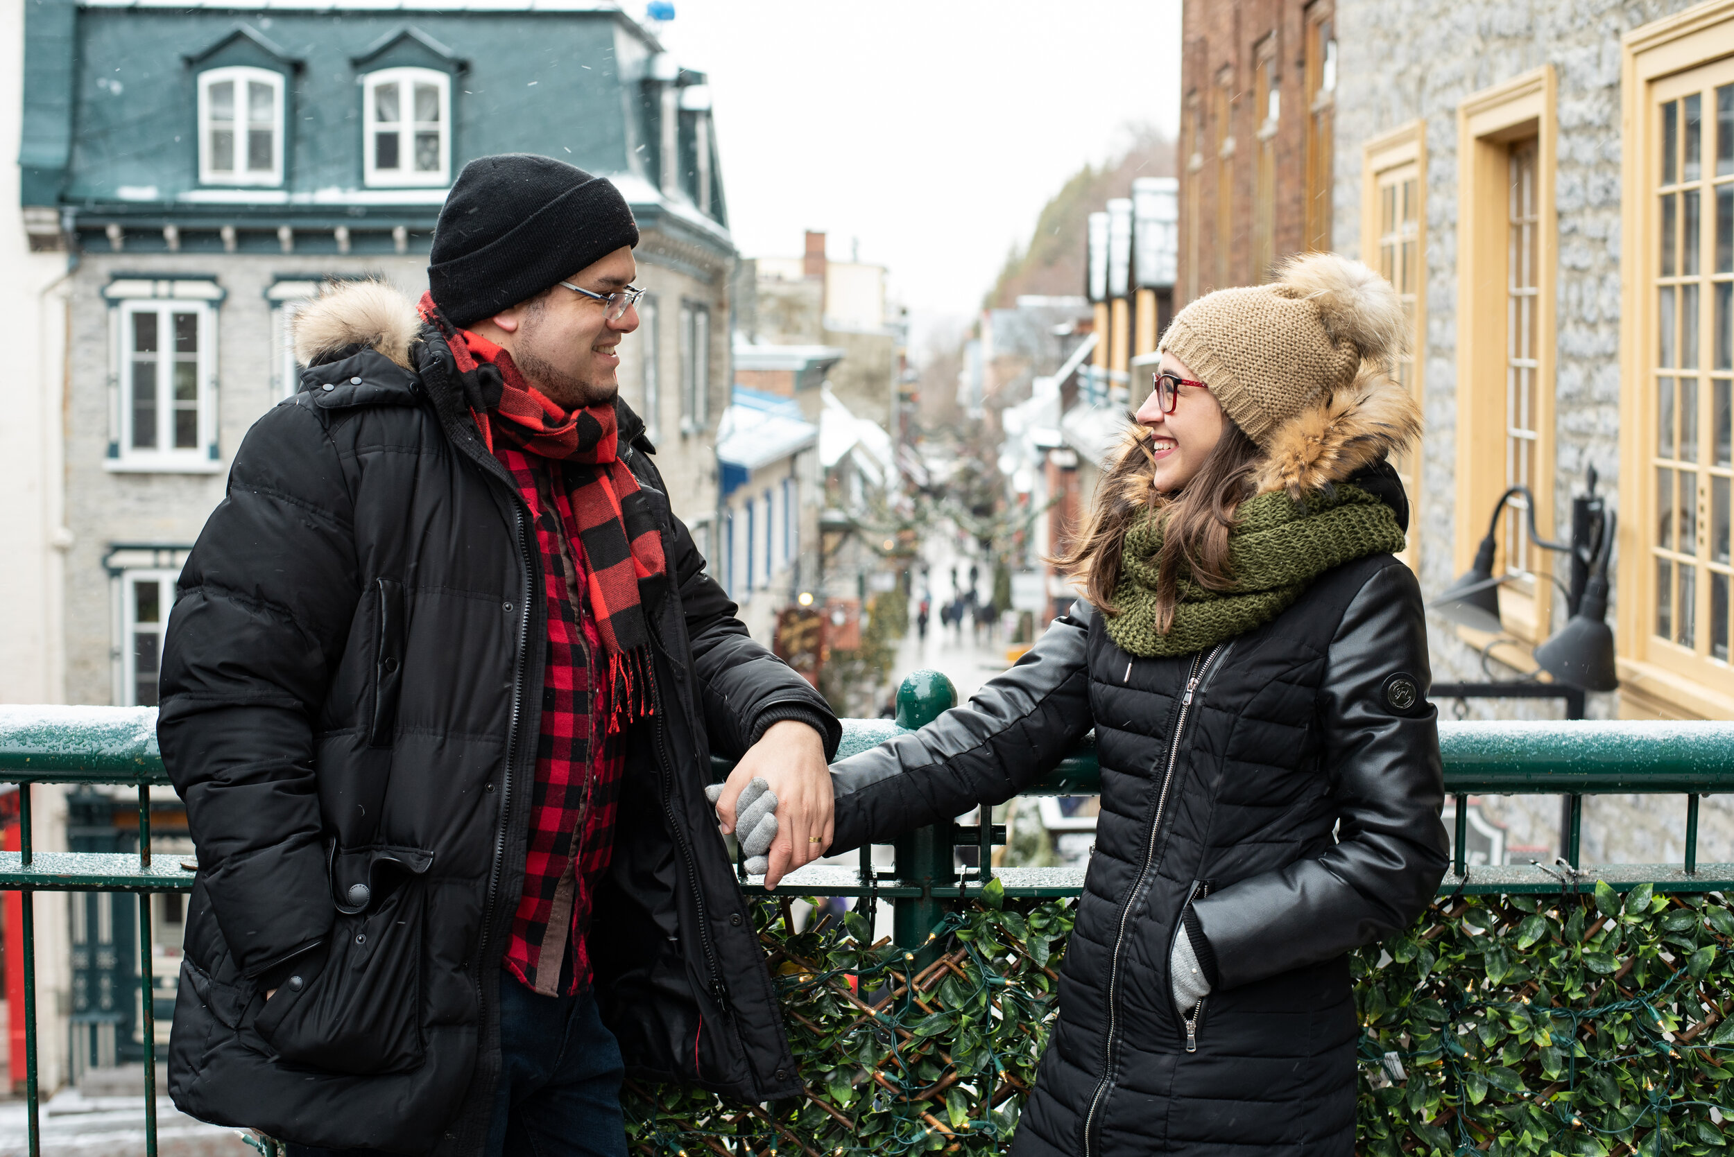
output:
[[310,404],[279,405],[241,443],[168,618],[156,736],[248,975],[317,944],[335,916],[312,729],[361,598],[352,520]]

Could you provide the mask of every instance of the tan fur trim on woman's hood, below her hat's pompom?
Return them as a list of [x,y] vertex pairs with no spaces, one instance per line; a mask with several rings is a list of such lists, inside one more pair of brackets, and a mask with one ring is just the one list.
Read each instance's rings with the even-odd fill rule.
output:
[[[1363,267],[1365,268],[1365,267]],[[1401,383],[1361,365],[1354,383],[1290,417],[1271,438],[1259,468],[1259,494],[1304,494],[1398,454],[1420,440],[1420,407]]]

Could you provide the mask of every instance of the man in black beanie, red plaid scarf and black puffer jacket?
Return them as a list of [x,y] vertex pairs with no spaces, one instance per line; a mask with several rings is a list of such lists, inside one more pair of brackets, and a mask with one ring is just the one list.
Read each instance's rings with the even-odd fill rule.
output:
[[[298,315],[302,391],[236,456],[163,658],[194,1117],[297,1157],[619,1157],[624,1065],[801,1093],[716,823],[763,778],[768,875],[813,859],[841,729],[619,398],[636,242],[610,182],[482,158],[420,307],[352,282]],[[740,757],[716,812],[711,752]]]

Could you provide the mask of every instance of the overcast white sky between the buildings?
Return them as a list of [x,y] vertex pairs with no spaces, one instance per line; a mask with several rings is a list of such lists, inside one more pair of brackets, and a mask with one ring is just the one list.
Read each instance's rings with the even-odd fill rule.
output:
[[1179,121],[1179,0],[675,9],[661,36],[709,73],[740,253],[796,255],[822,229],[848,260],[858,241],[921,329],[969,315],[1047,197],[1129,123]]

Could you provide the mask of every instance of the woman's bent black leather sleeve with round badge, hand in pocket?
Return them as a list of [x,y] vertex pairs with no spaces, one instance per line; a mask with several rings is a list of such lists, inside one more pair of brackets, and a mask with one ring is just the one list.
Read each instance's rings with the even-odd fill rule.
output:
[[[1193,909],[1224,989],[1332,960],[1406,927],[1450,863],[1439,821],[1444,771],[1427,703],[1427,627],[1415,575],[1392,563],[1349,603],[1330,644],[1318,710],[1339,842],[1316,859],[1238,880]],[[1392,674],[1418,695],[1398,708]],[[1394,696],[1405,701],[1406,695]]]

